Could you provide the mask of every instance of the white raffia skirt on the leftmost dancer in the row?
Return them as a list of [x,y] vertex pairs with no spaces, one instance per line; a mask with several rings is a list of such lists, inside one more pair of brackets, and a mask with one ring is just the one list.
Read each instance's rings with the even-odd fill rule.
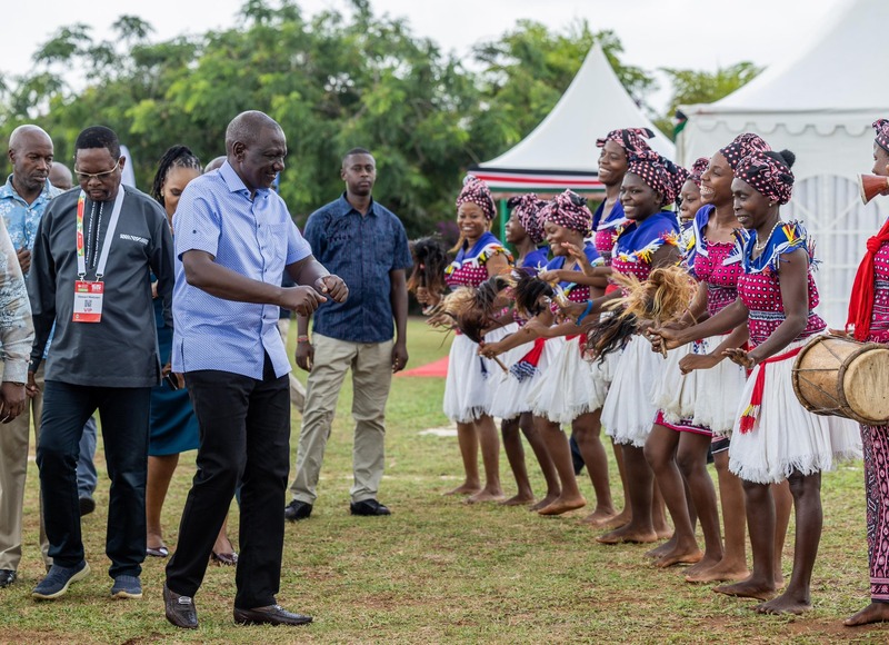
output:
[[[515,322],[489,331],[488,343],[496,343],[515,333]],[[458,424],[471,423],[490,414],[495,390],[503,371],[489,358],[478,355],[478,343],[457,334],[448,357],[448,377],[444,380],[444,415]],[[501,358],[502,359],[502,358]]]

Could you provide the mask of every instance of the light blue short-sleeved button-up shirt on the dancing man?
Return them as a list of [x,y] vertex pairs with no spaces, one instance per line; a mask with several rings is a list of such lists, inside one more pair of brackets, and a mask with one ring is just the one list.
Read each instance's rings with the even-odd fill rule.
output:
[[250,279],[280,286],[284,267],[311,255],[287,205],[271,190],[253,199],[228,161],[191,181],[173,216],[173,371],[214,369],[262,379],[264,355],[274,374],[290,371],[274,305],[236,302],[186,281],[182,255],[206,251]]

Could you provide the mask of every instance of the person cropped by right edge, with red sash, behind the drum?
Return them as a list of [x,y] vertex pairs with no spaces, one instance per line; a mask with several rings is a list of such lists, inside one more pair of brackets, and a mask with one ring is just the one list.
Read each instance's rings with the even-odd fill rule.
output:
[[[889,177],[889,120],[873,122],[873,173]],[[889,220],[868,240],[849,299],[855,338],[889,343]],[[867,492],[870,604],[846,619],[849,627],[889,621],[889,426],[861,426]]]

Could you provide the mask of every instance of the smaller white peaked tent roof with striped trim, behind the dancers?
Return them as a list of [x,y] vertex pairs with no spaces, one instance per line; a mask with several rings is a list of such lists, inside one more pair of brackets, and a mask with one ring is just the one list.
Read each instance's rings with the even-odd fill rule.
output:
[[471,172],[500,194],[602,191],[596,139],[618,128],[650,128],[651,147],[675,158],[672,142],[630,98],[596,43],[547,118],[512,149]]

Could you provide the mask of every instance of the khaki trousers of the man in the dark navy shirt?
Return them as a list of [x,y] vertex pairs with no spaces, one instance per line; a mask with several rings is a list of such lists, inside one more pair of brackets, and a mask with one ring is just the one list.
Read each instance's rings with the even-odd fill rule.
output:
[[349,343],[314,335],[314,364],[306,389],[306,408],[297,449],[294,499],[314,504],[324,448],[346,371],[352,370],[354,446],[349,490],[352,502],[376,499],[384,463],[386,400],[392,383],[392,340]]

